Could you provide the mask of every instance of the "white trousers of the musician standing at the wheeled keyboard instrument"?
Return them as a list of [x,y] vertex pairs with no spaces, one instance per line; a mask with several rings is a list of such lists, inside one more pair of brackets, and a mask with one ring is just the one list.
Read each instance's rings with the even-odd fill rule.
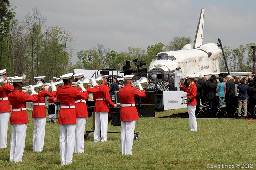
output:
[[108,112],[95,112],[94,142],[107,141],[108,135]]

